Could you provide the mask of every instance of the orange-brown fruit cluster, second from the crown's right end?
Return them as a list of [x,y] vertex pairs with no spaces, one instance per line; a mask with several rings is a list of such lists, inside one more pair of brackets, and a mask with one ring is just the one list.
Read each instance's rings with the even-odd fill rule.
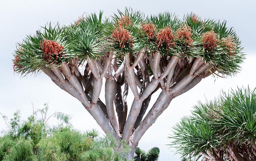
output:
[[213,30],[207,31],[202,34],[201,42],[205,50],[214,51],[214,47],[217,46],[217,42],[218,42],[217,34]]

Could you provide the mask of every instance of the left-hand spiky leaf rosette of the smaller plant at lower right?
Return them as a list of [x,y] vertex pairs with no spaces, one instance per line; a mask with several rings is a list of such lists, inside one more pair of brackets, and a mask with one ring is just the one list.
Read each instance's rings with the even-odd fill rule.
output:
[[[183,129],[183,131],[181,131]],[[173,128],[172,146],[183,156],[202,156],[202,152],[219,145],[216,129],[213,124],[203,119],[183,117]]]

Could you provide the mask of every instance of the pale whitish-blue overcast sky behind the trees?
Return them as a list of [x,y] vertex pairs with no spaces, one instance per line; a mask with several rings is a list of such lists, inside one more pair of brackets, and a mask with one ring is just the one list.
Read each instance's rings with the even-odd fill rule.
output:
[[[244,52],[247,54],[245,63],[242,64],[241,72],[234,77],[227,79],[214,78],[209,76],[202,80],[189,92],[173,99],[170,106],[163,112],[157,121],[147,130],[139,141],[139,147],[149,150],[151,147],[160,148],[161,161],[179,160],[179,155],[173,155],[168,149],[171,134],[171,127],[178,122],[182,116],[189,115],[192,106],[198,100],[205,102],[205,98],[213,99],[218,96],[220,90],[235,89],[236,86],[249,85],[256,87],[256,72],[254,63],[255,54],[255,1],[1,1],[0,3],[0,54],[1,54],[1,79],[0,79],[0,112],[9,118],[17,110],[21,110],[22,119],[32,113],[32,104],[35,108],[42,108],[43,104],[49,101],[49,114],[55,111],[72,114],[71,123],[74,128],[81,131],[96,128],[103,134],[96,121],[84,109],[81,103],[56,86],[45,74],[38,76],[21,77],[13,74],[11,59],[13,51],[16,49],[15,43],[22,41],[26,34],[34,34],[39,26],[46,22],[57,22],[61,25],[73,23],[83,12],[96,12],[103,10],[104,16],[109,16],[113,12],[117,13],[117,8],[124,10],[124,7],[133,7],[147,14],[157,14],[159,12],[175,12],[182,18],[187,12],[194,12],[202,18],[227,20],[229,27],[233,26],[237,35],[240,36]],[[104,91],[104,89],[102,89]],[[133,98],[128,97],[128,105],[131,105]],[[151,97],[149,109],[158,97],[160,91]],[[102,92],[102,97],[104,93]],[[129,106],[128,106],[129,107]],[[50,124],[57,124],[51,119]],[[7,129],[3,119],[0,119],[0,129]]]

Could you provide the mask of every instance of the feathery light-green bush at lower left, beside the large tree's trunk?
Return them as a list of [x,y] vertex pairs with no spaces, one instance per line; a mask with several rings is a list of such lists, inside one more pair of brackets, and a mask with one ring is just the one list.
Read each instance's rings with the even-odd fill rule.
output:
[[[58,126],[50,127],[48,106],[38,109],[26,121],[20,111],[10,120],[3,116],[9,130],[0,137],[0,161],[124,161],[130,148],[118,143],[111,135],[98,137],[95,129],[81,133],[72,128],[70,116],[61,112],[53,115]],[[37,118],[37,116],[39,118]],[[122,144],[123,150],[118,150]]]

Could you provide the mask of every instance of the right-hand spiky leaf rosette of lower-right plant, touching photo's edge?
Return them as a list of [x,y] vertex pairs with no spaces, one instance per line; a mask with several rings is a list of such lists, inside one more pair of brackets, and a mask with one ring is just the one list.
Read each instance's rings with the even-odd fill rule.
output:
[[246,153],[256,159],[255,89],[250,90],[248,87],[231,90],[230,93],[223,92],[219,115],[223,145],[234,152],[238,150],[239,153]]

